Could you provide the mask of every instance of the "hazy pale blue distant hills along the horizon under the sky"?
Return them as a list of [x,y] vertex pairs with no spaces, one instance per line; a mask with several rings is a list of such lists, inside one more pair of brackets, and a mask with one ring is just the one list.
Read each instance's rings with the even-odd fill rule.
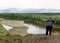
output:
[[20,9],[20,8],[8,8],[1,9],[0,13],[60,13],[59,9]]

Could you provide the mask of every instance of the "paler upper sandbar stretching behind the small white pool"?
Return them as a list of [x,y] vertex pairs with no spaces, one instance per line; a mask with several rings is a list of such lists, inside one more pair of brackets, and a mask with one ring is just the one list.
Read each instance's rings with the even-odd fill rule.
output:
[[2,24],[12,26],[12,27],[24,27],[24,21],[16,21],[16,20],[3,20]]

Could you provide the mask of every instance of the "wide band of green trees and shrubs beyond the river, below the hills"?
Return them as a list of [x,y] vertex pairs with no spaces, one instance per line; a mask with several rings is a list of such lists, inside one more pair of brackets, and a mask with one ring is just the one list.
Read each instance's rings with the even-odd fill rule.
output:
[[45,25],[48,17],[52,17],[56,26],[60,26],[60,13],[2,13],[0,18],[10,20],[24,20],[25,22],[33,23],[36,25]]

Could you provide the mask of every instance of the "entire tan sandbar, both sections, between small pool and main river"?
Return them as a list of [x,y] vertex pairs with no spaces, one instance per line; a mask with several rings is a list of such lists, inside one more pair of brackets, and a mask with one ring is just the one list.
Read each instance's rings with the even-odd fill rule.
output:
[[4,20],[1,23],[13,27],[13,29],[10,30],[12,35],[25,36],[27,34],[28,27],[24,25],[24,21]]

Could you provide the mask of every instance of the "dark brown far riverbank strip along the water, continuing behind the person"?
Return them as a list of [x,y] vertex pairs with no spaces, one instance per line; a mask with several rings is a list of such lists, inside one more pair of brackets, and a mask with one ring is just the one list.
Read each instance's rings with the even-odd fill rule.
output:
[[[36,21],[25,21],[25,23],[33,24],[33,25],[36,25],[36,26],[39,26],[41,28],[46,29],[46,25],[43,23],[38,23]],[[60,27],[59,26],[53,26],[52,32],[60,32]]]

